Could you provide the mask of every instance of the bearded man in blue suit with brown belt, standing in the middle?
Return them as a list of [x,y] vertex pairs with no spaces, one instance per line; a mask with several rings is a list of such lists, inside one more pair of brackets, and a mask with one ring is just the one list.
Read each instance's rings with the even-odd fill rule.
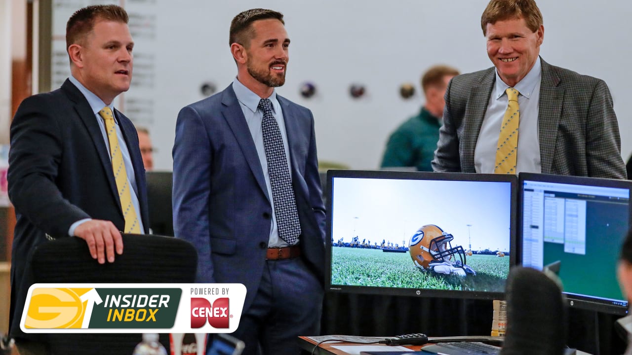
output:
[[285,81],[283,15],[250,9],[229,38],[237,77],[184,107],[173,147],[176,237],[198,250],[198,282],[247,289],[245,354],[298,354],[319,334],[324,220],[312,112],[277,95]]

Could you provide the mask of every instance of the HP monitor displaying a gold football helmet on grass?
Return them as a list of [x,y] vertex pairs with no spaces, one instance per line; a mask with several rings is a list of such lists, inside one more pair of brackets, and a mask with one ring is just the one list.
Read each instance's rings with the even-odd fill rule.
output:
[[327,180],[327,291],[504,298],[516,176],[330,170]]

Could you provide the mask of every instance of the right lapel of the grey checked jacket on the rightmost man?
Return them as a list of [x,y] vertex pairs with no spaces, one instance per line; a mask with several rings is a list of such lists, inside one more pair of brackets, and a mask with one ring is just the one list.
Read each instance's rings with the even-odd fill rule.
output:
[[538,104],[538,134],[540,139],[540,165],[542,172],[550,172],[555,153],[557,126],[562,115],[564,89],[558,88],[560,78],[553,67],[540,58],[542,81]]

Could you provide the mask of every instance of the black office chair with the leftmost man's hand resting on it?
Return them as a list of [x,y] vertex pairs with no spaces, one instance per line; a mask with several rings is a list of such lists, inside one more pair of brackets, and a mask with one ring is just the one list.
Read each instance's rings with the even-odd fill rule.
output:
[[[190,283],[195,282],[197,251],[183,239],[123,235],[123,255],[99,264],[80,238],[40,244],[30,255],[36,283]],[[51,354],[130,355],[140,334],[50,334]],[[168,334],[161,343],[169,349]]]

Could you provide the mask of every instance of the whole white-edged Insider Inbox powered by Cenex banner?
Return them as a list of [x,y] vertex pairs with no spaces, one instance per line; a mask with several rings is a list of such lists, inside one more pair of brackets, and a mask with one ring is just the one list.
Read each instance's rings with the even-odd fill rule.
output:
[[[232,333],[243,284],[33,284],[25,333]],[[232,313],[231,313],[232,312]]]

